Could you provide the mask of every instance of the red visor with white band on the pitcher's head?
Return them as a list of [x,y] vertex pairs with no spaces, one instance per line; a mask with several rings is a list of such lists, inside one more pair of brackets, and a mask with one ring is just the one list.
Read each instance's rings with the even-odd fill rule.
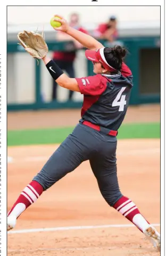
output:
[[85,56],[89,61],[94,61],[94,62],[101,62],[103,67],[106,70],[109,71],[114,71],[115,69],[107,63],[105,56],[104,56],[104,48],[100,48],[97,51],[90,51],[86,50],[85,51]]

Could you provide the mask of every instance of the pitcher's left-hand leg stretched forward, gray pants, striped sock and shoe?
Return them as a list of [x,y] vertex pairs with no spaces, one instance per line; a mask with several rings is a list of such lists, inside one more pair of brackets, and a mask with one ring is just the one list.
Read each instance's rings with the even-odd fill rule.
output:
[[76,169],[82,161],[88,159],[94,145],[88,143],[91,136],[82,125],[78,125],[59,148],[53,153],[41,171],[21,192],[18,200],[8,213],[8,229],[14,227],[16,219],[34,203],[39,196],[56,181]]

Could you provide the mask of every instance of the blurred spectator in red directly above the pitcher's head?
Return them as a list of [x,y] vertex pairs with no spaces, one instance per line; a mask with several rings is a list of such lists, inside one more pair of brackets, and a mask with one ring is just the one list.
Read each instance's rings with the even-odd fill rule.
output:
[[112,15],[107,23],[99,24],[94,33],[95,37],[108,40],[110,43],[118,38],[117,18]]

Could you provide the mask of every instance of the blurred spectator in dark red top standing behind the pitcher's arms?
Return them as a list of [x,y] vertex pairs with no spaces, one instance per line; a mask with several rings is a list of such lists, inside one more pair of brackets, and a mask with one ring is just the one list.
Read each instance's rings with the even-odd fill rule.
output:
[[[79,24],[79,15],[77,13],[72,13],[70,15],[70,26],[88,34],[88,32],[82,28]],[[74,78],[75,73],[74,73],[74,60],[76,59],[76,52],[77,49],[82,48],[83,46],[74,40],[72,37],[69,35],[65,34],[64,32],[58,31],[56,34],[56,40],[57,41],[72,41],[72,43],[69,43],[67,45],[67,51],[65,52],[60,52],[60,51],[55,51],[53,53],[53,60],[59,65],[59,67],[66,71],[69,75],[69,77]],[[72,99],[73,92],[70,90],[69,91],[69,100]],[[53,80],[53,92],[52,92],[52,100],[57,100],[57,83]]]

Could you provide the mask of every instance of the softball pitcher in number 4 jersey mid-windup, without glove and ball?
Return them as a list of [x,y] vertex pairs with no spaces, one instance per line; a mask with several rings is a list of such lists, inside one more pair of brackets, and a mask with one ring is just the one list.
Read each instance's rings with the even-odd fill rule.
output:
[[83,161],[89,160],[106,202],[130,220],[160,250],[160,234],[142,216],[136,204],[122,195],[118,185],[116,136],[126,114],[132,89],[132,73],[123,62],[126,49],[121,46],[105,48],[93,37],[71,28],[63,18],[61,23],[62,26],[55,30],[67,33],[89,49],[85,55],[93,62],[96,75],[69,78],[49,57],[43,58],[57,84],[84,94],[81,119],[72,134],[23,189],[8,213],[7,230],[14,228],[20,214],[46,189]]

